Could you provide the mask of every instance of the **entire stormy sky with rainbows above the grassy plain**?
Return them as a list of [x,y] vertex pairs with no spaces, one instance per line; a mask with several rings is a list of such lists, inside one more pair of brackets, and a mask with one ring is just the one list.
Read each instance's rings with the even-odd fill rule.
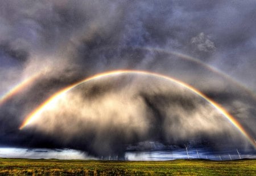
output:
[[255,156],[255,5],[1,1],[0,154]]

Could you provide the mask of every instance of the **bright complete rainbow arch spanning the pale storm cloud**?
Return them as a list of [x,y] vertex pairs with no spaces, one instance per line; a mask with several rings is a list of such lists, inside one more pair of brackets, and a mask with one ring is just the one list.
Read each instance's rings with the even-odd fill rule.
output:
[[64,89],[61,89],[59,92],[56,92],[54,95],[52,95],[50,98],[48,98],[48,100],[46,100],[45,102],[43,102],[43,104],[41,104],[37,109],[35,109],[34,111],[32,111],[27,117],[26,119],[24,119],[22,125],[19,127],[19,130],[22,130],[24,127],[26,127],[27,125],[29,125],[31,122],[35,121],[36,118],[39,117],[40,113],[42,113],[42,111],[44,111],[44,108],[52,101],[56,100],[57,98],[63,96],[65,93],[67,93],[68,91],[70,91],[71,89],[77,87],[77,85],[83,84],[87,81],[91,81],[91,80],[96,80],[96,79],[101,79],[107,76],[115,76],[115,75],[121,75],[121,74],[141,74],[141,75],[150,75],[150,76],[155,76],[156,78],[161,78],[161,79],[166,79],[169,81],[172,81],[173,83],[176,83],[178,85],[181,85],[187,89],[189,89],[190,91],[192,91],[193,93],[195,93],[196,95],[199,95],[200,97],[204,98],[204,100],[208,101],[215,109],[217,109],[222,115],[224,115],[224,117],[226,119],[228,119],[228,121],[230,123],[232,123],[232,125],[234,127],[236,127],[243,136],[245,136],[245,138],[247,140],[250,141],[250,143],[254,146],[254,148],[256,148],[256,143],[254,141],[254,138],[251,137],[247,131],[242,127],[242,125],[231,115],[228,113],[228,111],[226,111],[224,108],[222,108],[221,105],[217,104],[217,102],[214,102],[213,100],[211,100],[210,98],[208,98],[207,96],[205,96],[203,93],[201,93],[200,91],[198,91],[197,89],[193,88],[191,85],[188,85],[180,80],[177,80],[175,78],[171,78],[169,76],[166,75],[162,75],[162,74],[157,74],[154,72],[148,72],[148,71],[140,71],[140,70],[115,70],[115,71],[109,71],[109,72],[103,72],[101,74],[96,74],[94,76],[90,76],[89,78],[86,78],[84,80],[81,80],[77,83],[71,84],[68,87],[65,87]]

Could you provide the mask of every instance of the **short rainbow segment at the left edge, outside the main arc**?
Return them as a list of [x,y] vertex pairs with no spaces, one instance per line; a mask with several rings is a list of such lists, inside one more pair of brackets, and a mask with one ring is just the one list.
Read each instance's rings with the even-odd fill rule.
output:
[[27,87],[29,84],[31,84],[34,80],[36,80],[40,75],[40,72],[35,73],[34,75],[20,81],[20,83],[16,84],[12,89],[10,89],[9,92],[6,92],[5,95],[3,95],[0,98],[0,106],[4,104],[9,98],[16,95],[18,92],[22,91],[25,87]]

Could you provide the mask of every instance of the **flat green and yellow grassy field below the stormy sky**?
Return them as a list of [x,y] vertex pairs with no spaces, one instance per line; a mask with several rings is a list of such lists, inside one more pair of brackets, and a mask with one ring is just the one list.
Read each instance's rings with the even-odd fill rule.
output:
[[256,160],[96,161],[1,158],[0,175],[256,175]]

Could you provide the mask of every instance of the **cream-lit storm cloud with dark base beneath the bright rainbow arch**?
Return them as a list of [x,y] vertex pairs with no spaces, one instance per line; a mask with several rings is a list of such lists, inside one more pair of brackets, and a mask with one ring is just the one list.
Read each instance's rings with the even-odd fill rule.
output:
[[241,138],[208,101],[187,88],[150,76],[110,76],[55,99],[24,131],[55,136],[65,147],[79,140],[77,148],[87,148],[97,156],[115,152],[122,156],[129,144],[145,141],[177,145],[201,140],[202,134],[209,138],[225,134],[234,141]]

